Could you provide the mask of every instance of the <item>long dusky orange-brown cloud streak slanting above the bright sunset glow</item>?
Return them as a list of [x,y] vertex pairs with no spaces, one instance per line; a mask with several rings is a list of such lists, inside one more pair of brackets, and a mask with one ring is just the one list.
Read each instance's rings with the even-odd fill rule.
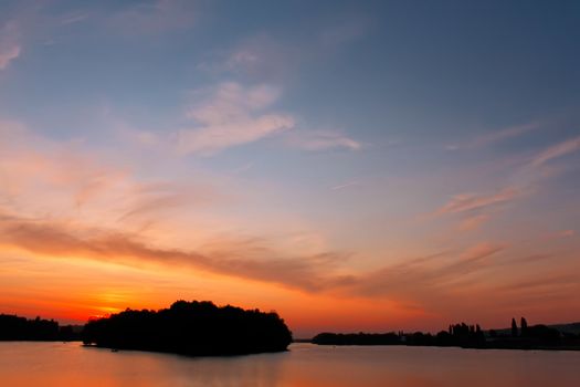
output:
[[147,263],[197,270],[320,291],[347,278],[326,275],[345,257],[285,257],[259,240],[222,240],[199,251],[156,248],[114,230],[78,229],[51,220],[0,215],[0,244],[53,258],[85,258],[122,264]]

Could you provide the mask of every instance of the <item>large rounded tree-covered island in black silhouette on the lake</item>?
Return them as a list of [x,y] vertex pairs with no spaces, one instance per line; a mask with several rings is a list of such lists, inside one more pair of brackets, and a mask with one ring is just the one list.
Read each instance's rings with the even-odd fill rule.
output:
[[133,311],[91,321],[86,345],[190,356],[242,355],[286,351],[292,333],[274,312],[178,301],[159,311]]

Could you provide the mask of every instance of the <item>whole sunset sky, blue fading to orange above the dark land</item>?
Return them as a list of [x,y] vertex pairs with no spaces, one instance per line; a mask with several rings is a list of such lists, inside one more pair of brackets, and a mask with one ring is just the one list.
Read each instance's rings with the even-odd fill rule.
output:
[[2,1],[0,312],[580,321],[577,1]]

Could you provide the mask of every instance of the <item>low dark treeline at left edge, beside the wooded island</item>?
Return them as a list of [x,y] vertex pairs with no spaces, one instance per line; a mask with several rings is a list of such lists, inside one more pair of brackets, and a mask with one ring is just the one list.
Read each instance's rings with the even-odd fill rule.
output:
[[0,341],[80,341],[81,330],[73,325],[59,325],[54,320],[28,320],[0,314]]

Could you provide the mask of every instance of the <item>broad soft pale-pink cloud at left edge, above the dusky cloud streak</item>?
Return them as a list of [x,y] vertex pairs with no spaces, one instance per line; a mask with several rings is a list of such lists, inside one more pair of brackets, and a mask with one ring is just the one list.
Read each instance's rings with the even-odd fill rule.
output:
[[218,192],[213,180],[139,177],[133,166],[82,142],[53,142],[18,123],[0,122],[0,208],[21,216],[52,213],[102,227],[140,228],[178,208],[224,203],[230,197]]

